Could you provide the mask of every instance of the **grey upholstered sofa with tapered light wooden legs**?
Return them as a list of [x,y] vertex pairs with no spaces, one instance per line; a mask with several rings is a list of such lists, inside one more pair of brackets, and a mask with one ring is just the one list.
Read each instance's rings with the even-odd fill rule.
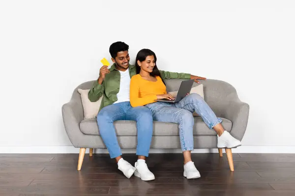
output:
[[[181,79],[165,80],[167,91],[177,91]],[[205,101],[215,112],[216,116],[223,120],[222,125],[238,140],[242,140],[249,114],[249,105],[239,100],[236,89],[227,82],[220,80],[201,80],[204,85]],[[93,81],[79,85],[73,92],[72,98],[62,106],[62,118],[65,131],[74,147],[80,148],[78,170],[81,170],[86,148],[90,148],[92,156],[93,148],[106,148],[100,135],[96,119],[84,120],[83,106],[77,89],[89,89]],[[198,85],[194,83],[193,87]],[[118,142],[121,148],[136,148],[137,131],[133,121],[117,121],[114,123]],[[210,130],[201,117],[195,117],[194,126],[195,148],[217,148],[216,132]],[[180,149],[178,124],[154,122],[154,130],[151,148],[178,148]],[[234,171],[231,149],[225,149],[229,161],[230,170]],[[219,149],[222,156],[222,149]]]

